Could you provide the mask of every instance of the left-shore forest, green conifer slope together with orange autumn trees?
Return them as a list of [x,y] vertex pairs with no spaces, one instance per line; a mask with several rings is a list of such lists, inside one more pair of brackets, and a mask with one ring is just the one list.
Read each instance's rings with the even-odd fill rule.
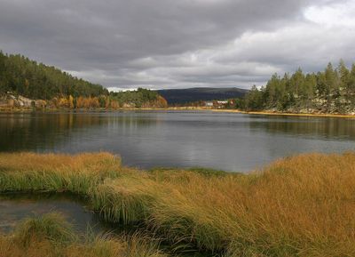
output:
[[[29,60],[20,54],[0,51],[0,97],[7,92],[33,100],[36,108],[162,108],[166,100],[158,92],[138,88],[132,92],[108,92],[71,76],[59,68]],[[4,98],[5,97],[5,98]],[[20,101],[8,100],[9,107],[20,107]]]

